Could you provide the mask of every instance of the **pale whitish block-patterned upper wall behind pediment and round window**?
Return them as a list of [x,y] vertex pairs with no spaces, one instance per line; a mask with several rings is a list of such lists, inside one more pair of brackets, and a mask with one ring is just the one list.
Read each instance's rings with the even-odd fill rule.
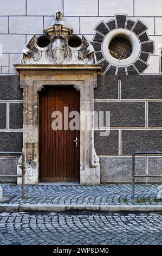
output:
[[[148,68],[143,62],[136,63],[136,65],[138,68],[141,66],[140,71],[144,71],[145,74],[159,74],[160,60],[158,56],[162,38],[160,8],[162,7],[158,0],[148,0],[147,4],[144,0],[1,0],[0,44],[3,56],[0,58],[0,75],[17,75],[13,64],[18,62],[19,54],[21,54],[25,43],[31,38],[31,35],[42,34],[45,25],[50,26],[57,9],[63,11],[63,20],[68,27],[74,28],[74,34],[83,34],[87,36],[88,40],[92,40],[95,33],[94,28],[102,20],[109,26],[117,26],[111,25],[115,14],[126,14],[129,28],[133,26],[134,21],[141,20],[148,28],[150,39],[154,40],[155,53],[151,53]],[[137,30],[137,27],[135,29]],[[144,42],[143,47],[145,47],[147,36],[141,33],[139,38]],[[101,58],[101,54],[97,55],[98,58]],[[144,62],[146,58],[146,56],[142,56]]]

